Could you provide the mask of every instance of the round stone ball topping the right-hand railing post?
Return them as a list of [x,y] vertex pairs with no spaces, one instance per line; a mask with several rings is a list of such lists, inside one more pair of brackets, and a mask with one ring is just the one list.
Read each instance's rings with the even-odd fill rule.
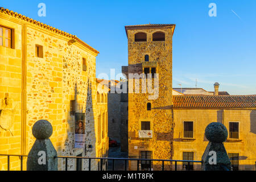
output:
[[228,137],[228,130],[222,123],[210,123],[205,129],[205,137],[214,143],[222,143]]

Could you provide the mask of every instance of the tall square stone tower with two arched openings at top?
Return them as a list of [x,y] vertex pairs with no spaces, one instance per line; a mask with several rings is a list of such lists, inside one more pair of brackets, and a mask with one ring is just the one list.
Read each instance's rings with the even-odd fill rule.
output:
[[[175,24],[143,24],[125,26],[125,29],[128,67],[122,67],[122,72],[126,76],[152,73],[155,89],[154,93],[148,93],[148,89],[145,93],[141,88],[142,77],[127,77],[129,158],[172,159],[172,35]],[[155,74],[158,79],[154,78]],[[154,86],[157,80],[159,82]],[[134,93],[136,82],[140,85],[139,93]],[[152,95],[155,97],[150,98]],[[161,167],[160,162],[141,163],[142,169],[156,170]],[[166,163],[165,169],[170,168],[170,163]],[[137,170],[137,162],[131,161],[129,169]]]

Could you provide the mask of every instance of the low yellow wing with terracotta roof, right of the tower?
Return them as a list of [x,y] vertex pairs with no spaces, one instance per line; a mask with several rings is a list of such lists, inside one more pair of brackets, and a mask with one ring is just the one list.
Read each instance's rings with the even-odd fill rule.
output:
[[[224,142],[233,170],[255,170],[256,95],[173,96],[174,156],[176,160],[201,160],[208,140],[204,130],[211,122],[228,129]],[[179,170],[200,170],[201,165],[178,163]]]

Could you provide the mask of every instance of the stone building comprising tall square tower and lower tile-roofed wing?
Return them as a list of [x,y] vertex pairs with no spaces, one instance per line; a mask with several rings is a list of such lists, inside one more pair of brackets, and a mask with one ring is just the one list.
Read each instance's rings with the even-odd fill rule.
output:
[[[202,88],[172,89],[173,24],[126,26],[128,67],[122,72],[129,82],[128,140],[129,158],[201,160],[207,147],[205,127],[211,122],[223,123],[229,131],[224,142],[233,170],[255,169],[256,95],[231,96]],[[162,36],[161,36],[162,35]],[[141,93],[143,77],[129,73],[158,73],[159,97],[148,100]],[[131,93],[139,80],[140,93]],[[135,81],[134,81],[135,80]],[[174,165],[174,164],[172,164]],[[165,169],[172,165],[165,164]],[[158,163],[141,163],[142,169],[159,169]],[[179,170],[200,170],[200,164],[177,163]],[[136,170],[137,162],[129,163]]]

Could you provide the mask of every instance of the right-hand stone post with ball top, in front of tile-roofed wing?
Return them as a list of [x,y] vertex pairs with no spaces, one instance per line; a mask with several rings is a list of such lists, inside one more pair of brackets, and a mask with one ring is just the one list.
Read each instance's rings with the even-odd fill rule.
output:
[[231,171],[231,163],[222,143],[228,137],[226,127],[222,123],[210,123],[205,129],[205,137],[209,143],[202,156],[202,170]]

